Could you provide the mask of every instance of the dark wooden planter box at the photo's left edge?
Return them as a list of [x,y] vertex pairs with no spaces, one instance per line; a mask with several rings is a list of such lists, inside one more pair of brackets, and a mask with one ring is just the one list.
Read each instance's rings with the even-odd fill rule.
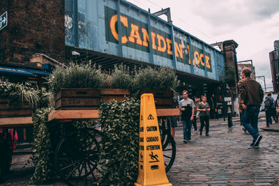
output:
[[0,98],[0,118],[31,116],[33,107],[24,101],[17,106],[8,106],[8,99]]

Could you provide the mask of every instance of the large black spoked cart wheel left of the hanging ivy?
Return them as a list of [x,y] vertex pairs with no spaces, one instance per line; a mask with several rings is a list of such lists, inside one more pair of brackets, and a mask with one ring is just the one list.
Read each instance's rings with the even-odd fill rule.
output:
[[99,166],[100,140],[95,129],[78,129],[59,141],[54,154],[56,173],[68,185],[91,185],[105,180],[107,173]]

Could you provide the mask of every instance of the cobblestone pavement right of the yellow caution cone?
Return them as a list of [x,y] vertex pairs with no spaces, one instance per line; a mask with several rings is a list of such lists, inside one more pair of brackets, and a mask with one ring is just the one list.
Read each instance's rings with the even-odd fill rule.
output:
[[[223,124],[222,124],[223,123]],[[259,149],[248,149],[252,137],[240,122],[232,132],[224,121],[210,121],[209,137],[193,134],[183,144],[183,127],[176,128],[176,160],[167,173],[173,185],[278,185],[279,133],[259,130]],[[199,124],[199,122],[198,122]],[[273,124],[278,125],[279,124]],[[265,127],[264,120],[259,127]]]

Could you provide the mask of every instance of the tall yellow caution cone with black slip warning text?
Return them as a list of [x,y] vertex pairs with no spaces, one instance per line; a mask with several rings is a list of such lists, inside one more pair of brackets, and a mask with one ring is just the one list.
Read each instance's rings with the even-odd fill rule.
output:
[[134,185],[172,185],[165,173],[163,148],[153,94],[140,100],[139,175]]

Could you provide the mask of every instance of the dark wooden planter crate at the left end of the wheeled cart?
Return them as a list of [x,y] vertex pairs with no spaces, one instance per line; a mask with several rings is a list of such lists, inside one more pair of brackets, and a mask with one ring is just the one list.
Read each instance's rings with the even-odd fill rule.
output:
[[56,110],[98,109],[100,90],[96,88],[61,88],[55,96]]

